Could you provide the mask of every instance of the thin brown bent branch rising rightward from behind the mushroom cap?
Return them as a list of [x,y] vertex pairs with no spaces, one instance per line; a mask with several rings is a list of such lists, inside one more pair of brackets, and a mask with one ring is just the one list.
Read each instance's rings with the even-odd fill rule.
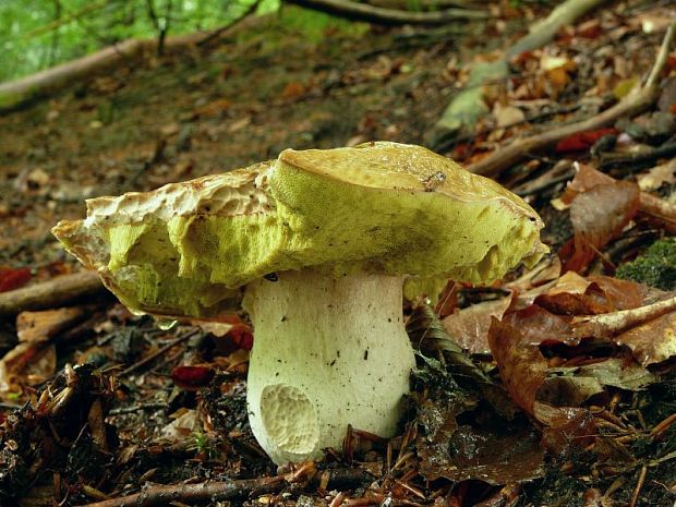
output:
[[666,31],[666,35],[662,41],[655,63],[650,72],[651,77],[645,82],[643,87],[630,93],[615,106],[606,109],[593,118],[570,123],[558,129],[553,129],[542,134],[516,140],[509,146],[499,148],[486,158],[478,161],[476,164],[472,164],[469,167],[469,170],[475,172],[476,174],[494,178],[499,174],[500,171],[519,162],[530,154],[546,148],[564,137],[579,132],[597,130],[613,124],[620,118],[633,117],[649,109],[660,96],[660,84],[655,76],[660,75],[662,73],[662,69],[664,69],[666,58],[663,56],[668,53],[668,48],[672,44],[675,32],[676,21],[674,21]]

